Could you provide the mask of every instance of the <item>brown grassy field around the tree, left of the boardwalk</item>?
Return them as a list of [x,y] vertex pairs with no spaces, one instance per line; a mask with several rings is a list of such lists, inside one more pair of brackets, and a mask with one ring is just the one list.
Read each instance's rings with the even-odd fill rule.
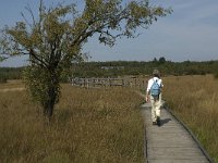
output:
[[0,91],[0,149],[3,149],[0,160],[3,163],[143,162],[141,102],[129,89],[62,85],[61,101],[48,125],[25,91]]

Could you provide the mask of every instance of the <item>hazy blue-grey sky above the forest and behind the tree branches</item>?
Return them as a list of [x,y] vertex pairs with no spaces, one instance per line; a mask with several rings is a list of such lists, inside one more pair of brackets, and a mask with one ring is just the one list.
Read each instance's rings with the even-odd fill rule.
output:
[[[38,1],[0,0],[0,28],[21,21],[26,4],[37,11]],[[50,5],[63,1],[45,2]],[[88,39],[83,48],[90,55],[88,61],[152,61],[161,57],[173,62],[218,60],[218,0],[150,0],[150,4],[172,8],[173,12],[148,29],[138,29],[137,38],[119,39],[112,48],[99,45],[96,37]],[[22,66],[27,63],[25,60],[10,59],[0,66]]]

